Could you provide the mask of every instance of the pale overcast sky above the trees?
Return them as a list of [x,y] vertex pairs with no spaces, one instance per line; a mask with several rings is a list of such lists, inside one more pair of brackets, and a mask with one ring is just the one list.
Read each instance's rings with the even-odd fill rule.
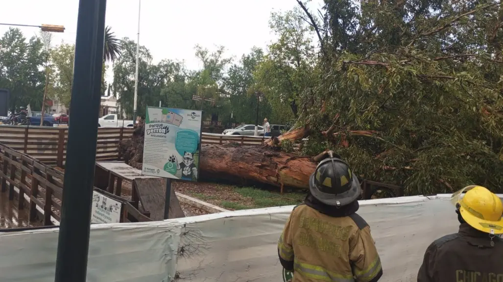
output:
[[[55,34],[54,44],[74,43],[78,0],[0,0],[0,23],[62,25],[64,34]],[[311,8],[318,8],[314,0]],[[275,37],[269,29],[273,11],[287,11],[296,0],[141,0],[140,45],[146,46],[154,62],[184,60],[190,69],[199,69],[194,46],[210,50],[226,47],[227,55],[239,58],[251,47],[265,48]],[[313,10],[314,12],[315,10]],[[138,0],[108,0],[106,24],[118,38],[136,41]],[[8,27],[0,26],[0,34]],[[21,28],[25,36],[36,28]]]

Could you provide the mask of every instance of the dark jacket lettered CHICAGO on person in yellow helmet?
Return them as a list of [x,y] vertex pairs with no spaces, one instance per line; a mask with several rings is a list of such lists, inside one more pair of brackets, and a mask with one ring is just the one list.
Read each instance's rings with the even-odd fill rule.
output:
[[426,250],[417,282],[503,282],[503,240],[461,223]]

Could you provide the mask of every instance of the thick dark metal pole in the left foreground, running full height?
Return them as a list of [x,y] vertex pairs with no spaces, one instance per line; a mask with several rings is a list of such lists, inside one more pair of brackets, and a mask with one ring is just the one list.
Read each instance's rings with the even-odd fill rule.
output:
[[96,161],[106,0],[80,0],[56,282],[85,282]]

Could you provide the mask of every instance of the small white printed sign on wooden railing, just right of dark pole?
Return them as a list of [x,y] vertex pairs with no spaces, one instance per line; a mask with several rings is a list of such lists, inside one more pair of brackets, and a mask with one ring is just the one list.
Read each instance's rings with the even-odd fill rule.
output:
[[122,203],[93,191],[91,223],[119,223]]

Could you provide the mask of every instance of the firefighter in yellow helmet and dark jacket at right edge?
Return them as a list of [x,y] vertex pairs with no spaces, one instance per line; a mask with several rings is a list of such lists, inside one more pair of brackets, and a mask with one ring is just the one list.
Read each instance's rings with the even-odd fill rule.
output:
[[503,281],[501,199],[482,186],[471,185],[454,193],[451,200],[461,223],[459,231],[428,247],[417,282]]

